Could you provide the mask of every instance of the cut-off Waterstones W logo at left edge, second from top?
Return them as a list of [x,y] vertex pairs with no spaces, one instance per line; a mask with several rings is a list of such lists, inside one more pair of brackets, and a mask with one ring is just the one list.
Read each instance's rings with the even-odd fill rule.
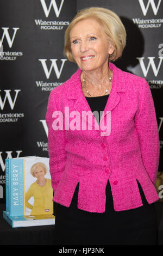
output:
[[[13,99],[12,98],[13,97],[13,92],[11,92],[11,90],[4,90],[3,93],[1,93],[1,90],[0,90],[0,107],[1,107],[1,110],[4,109],[4,106],[6,104],[8,106],[10,106],[11,110],[14,109],[15,103],[16,103],[16,100],[17,100],[17,95],[18,95],[19,92],[21,92],[21,90],[17,89],[17,90],[14,90],[14,92],[15,92],[15,95],[14,95],[14,99]],[[11,97],[11,93],[12,93],[12,97]],[[23,113],[0,113],[0,123],[17,122],[18,119],[22,118],[22,117],[24,117]]]

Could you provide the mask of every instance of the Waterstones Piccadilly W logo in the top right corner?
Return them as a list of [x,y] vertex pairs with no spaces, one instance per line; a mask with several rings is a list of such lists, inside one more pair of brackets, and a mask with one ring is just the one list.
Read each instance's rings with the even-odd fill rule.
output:
[[[147,15],[148,9],[151,6],[153,10],[153,14],[156,16],[158,14],[158,10],[160,8],[160,4],[162,0],[159,0],[157,3],[155,3],[154,0],[148,0],[147,5],[145,6],[144,3],[145,0],[139,0],[139,4],[142,10],[142,13],[144,16]],[[138,25],[139,28],[160,28],[163,19],[162,17],[159,17],[158,19],[140,19],[140,18],[134,18],[133,22]]]

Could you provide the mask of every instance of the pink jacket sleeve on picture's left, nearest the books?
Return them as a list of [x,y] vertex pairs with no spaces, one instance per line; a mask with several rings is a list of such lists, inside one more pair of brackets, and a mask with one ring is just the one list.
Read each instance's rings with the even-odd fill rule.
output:
[[[55,89],[54,89],[55,90]],[[56,96],[54,90],[51,91],[48,100],[46,123],[48,126],[48,152],[49,152],[49,171],[51,173],[52,187],[55,192],[61,175],[64,172],[66,164],[65,153],[65,130],[54,130],[53,121],[54,111],[59,111],[55,106]]]

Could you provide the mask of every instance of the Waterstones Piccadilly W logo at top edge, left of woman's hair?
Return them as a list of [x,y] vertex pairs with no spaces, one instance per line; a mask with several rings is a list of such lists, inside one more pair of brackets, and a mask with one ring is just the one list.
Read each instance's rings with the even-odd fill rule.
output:
[[[46,17],[49,16],[49,13],[51,13],[51,11],[54,12],[57,18],[59,17],[62,6],[64,4],[64,0],[61,0],[59,7],[57,6],[55,0],[51,0],[50,3],[48,2],[49,6],[47,6],[45,0],[40,0],[40,2]],[[35,20],[35,25],[39,26],[41,30],[62,30],[64,26],[68,26],[69,24],[69,21],[47,21],[42,19]]]

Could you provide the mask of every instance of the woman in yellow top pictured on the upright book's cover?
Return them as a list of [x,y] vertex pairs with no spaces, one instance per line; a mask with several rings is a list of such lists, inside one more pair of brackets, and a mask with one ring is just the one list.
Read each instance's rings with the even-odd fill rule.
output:
[[[51,180],[45,178],[46,164],[42,162],[33,164],[30,173],[36,178],[25,197],[26,207],[32,210],[30,215],[53,214],[53,189]],[[31,197],[34,197],[34,205],[28,202]]]

